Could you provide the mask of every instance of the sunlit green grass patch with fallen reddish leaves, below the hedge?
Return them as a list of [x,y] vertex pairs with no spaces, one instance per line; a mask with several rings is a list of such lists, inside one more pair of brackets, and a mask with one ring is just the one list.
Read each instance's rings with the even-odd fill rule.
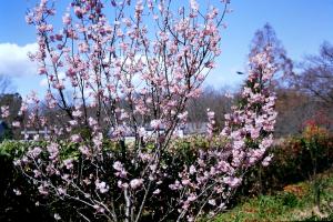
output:
[[274,195],[248,199],[206,221],[332,221],[333,170],[319,174],[317,181],[321,182],[321,211],[314,203],[313,183],[305,181],[287,185]]

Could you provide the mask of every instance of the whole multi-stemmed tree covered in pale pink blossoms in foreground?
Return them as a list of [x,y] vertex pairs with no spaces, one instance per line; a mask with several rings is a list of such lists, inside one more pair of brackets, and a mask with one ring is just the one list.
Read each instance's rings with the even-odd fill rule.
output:
[[[226,142],[198,148],[189,161],[172,149],[188,101],[221,53],[229,1],[216,3],[199,10],[191,0],[174,10],[167,0],[77,0],[59,32],[50,23],[53,2],[41,0],[28,13],[39,43],[30,58],[49,84],[44,101],[62,110],[56,114],[62,121],[50,124],[32,93],[20,111],[30,109],[27,125],[50,129],[47,144],[31,145],[14,162],[40,194],[77,202],[87,221],[193,221],[223,211],[246,170],[268,164],[276,115],[270,49],[251,58],[242,101],[221,135],[208,111],[208,140]],[[124,142],[127,134],[133,143]]]

